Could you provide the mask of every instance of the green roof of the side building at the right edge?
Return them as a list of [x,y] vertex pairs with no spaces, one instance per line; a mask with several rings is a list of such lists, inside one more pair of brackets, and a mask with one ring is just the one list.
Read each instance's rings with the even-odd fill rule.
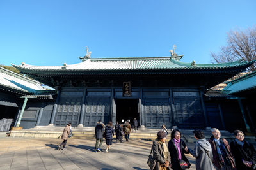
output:
[[228,94],[236,94],[246,90],[256,89],[256,71],[250,74],[246,74],[236,80],[230,81],[227,87],[223,89],[223,92]]

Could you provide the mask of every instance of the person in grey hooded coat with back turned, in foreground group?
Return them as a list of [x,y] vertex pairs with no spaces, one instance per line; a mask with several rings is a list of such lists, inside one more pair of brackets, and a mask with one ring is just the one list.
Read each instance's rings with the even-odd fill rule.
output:
[[215,169],[212,164],[212,148],[209,141],[205,140],[204,133],[201,130],[193,131],[196,139],[194,150],[190,148],[189,153],[196,158],[196,170],[213,170]]

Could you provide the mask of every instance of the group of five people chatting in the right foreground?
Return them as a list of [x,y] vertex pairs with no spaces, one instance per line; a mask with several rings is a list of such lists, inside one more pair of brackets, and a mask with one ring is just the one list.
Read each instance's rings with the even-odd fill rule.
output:
[[180,139],[179,129],[173,129],[171,139],[166,145],[166,128],[162,126],[153,141],[152,151],[156,165],[152,169],[189,169],[191,166],[185,154],[196,158],[196,170],[247,170],[256,169],[256,152],[252,143],[244,140],[242,131],[234,131],[235,139],[228,144],[221,138],[218,129],[211,129],[212,136],[205,139],[201,130],[193,131],[196,139],[195,148],[191,149]]

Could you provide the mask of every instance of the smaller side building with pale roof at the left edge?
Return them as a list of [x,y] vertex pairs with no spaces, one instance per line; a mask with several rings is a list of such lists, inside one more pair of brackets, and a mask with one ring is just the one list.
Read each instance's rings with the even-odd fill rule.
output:
[[[25,129],[48,125],[49,121],[43,119],[47,113],[51,117],[54,94],[55,90],[45,90],[38,81],[0,67],[0,131],[9,131],[11,125],[17,126],[20,113],[23,116],[19,123]],[[29,105],[26,105],[28,101]],[[39,124],[40,111],[45,117]]]

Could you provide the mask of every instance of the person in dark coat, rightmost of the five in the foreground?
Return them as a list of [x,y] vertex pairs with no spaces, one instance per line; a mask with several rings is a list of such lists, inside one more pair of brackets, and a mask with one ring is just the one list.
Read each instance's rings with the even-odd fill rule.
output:
[[256,169],[256,152],[252,143],[244,140],[244,133],[234,131],[236,139],[230,142],[230,150],[235,158],[237,170]]

